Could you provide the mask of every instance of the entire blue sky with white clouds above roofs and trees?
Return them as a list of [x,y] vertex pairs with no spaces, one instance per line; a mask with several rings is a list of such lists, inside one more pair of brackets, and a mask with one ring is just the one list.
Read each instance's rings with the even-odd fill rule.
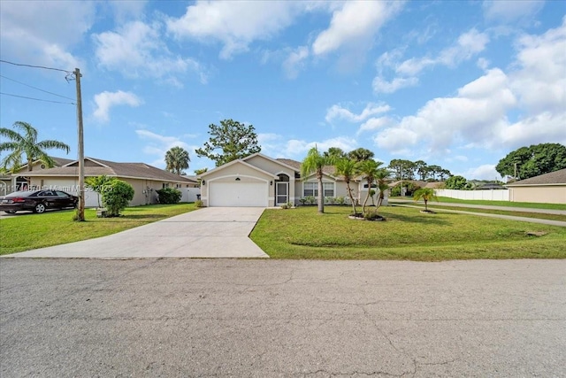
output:
[[[1,59],[83,77],[85,155],[188,173],[208,126],[256,127],[262,152],[364,147],[499,178],[509,151],[566,144],[566,2],[0,2]],[[74,82],[0,64],[0,125],[77,157]],[[30,88],[29,86],[35,87]],[[65,157],[54,151],[53,155]]]

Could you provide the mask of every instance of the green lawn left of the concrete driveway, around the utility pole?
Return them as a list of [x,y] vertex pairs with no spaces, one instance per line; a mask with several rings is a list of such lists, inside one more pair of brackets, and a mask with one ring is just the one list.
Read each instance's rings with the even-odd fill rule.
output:
[[96,218],[96,210],[87,209],[84,222],[73,221],[74,210],[22,213],[0,220],[0,255],[111,235],[195,209],[195,204],[152,204],[128,207],[119,218]]

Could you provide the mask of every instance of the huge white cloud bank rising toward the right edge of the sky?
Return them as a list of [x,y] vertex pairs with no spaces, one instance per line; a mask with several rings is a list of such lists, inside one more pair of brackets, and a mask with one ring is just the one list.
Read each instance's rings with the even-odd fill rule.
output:
[[428,101],[415,115],[379,129],[375,143],[436,154],[454,143],[492,150],[566,143],[566,18],[542,35],[524,35],[516,48],[509,73],[490,69],[456,96]]

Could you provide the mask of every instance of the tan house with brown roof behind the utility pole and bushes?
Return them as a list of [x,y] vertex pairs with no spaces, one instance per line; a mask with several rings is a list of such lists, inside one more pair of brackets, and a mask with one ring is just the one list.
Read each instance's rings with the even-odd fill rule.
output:
[[[182,177],[178,174],[166,172],[155,166],[145,163],[117,163],[99,158],[85,158],[85,178],[107,175],[126,181],[134,187],[134,199],[131,206],[139,204],[157,204],[158,189],[194,188],[195,180]],[[63,166],[49,169],[33,170],[27,172],[20,170],[19,177],[25,177],[32,188],[59,189],[77,194],[79,189],[79,161],[73,160]],[[14,176],[15,176],[14,175]],[[14,177],[13,180],[18,179]],[[182,199],[181,199],[182,200]],[[98,206],[98,194],[92,189],[85,189],[85,206]]]

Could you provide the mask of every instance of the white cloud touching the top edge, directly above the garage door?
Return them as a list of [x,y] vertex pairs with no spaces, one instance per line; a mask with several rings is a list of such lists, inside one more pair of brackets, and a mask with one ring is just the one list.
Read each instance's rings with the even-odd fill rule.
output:
[[304,11],[302,2],[198,1],[179,19],[168,19],[167,30],[178,38],[223,43],[220,58],[247,51],[256,40],[267,40],[291,25]]

